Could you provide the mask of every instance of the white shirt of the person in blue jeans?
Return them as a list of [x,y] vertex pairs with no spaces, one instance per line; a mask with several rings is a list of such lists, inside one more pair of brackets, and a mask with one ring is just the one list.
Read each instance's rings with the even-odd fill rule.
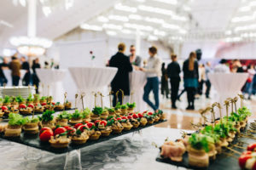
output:
[[147,77],[161,76],[161,60],[157,55],[148,58],[148,65],[145,68]]

